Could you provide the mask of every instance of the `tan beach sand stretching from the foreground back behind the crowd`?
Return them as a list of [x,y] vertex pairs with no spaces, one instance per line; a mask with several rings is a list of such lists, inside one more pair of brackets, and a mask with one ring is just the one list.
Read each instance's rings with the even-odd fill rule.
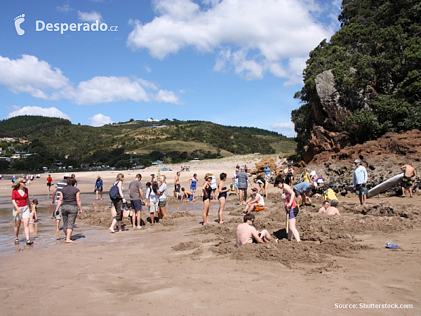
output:
[[[260,158],[260,157],[258,157]],[[237,159],[237,160],[235,160]],[[182,172],[189,187],[193,173],[232,176],[234,166],[253,168],[255,156],[192,162]],[[180,169],[180,166],[171,166]],[[151,171],[142,170],[149,180]],[[98,174],[108,189],[116,171],[77,173],[81,192],[92,192]],[[137,172],[135,172],[137,173]],[[135,176],[124,172],[125,186]],[[173,187],[175,171],[168,176]],[[60,178],[53,174],[54,182]],[[46,194],[46,175],[29,186],[32,198]],[[143,181],[145,183],[145,181]],[[229,180],[227,181],[230,182]],[[10,189],[0,192],[10,199]],[[3,193],[3,194],[1,194]],[[111,234],[109,198],[86,198],[74,244],[59,241],[19,245],[1,256],[1,315],[420,315],[421,199],[380,197],[357,206],[356,197],[340,198],[342,217],[306,206],[298,215],[302,243],[288,242],[280,192],[269,189],[264,211],[255,213],[258,230],[279,243],[236,249],[242,216],[235,196],[227,199],[225,224],[200,225],[200,198],[193,204],[168,199],[168,219],[142,230]],[[321,199],[315,198],[318,208]],[[50,203],[45,201],[42,203]],[[218,202],[211,202],[210,220]],[[147,212],[142,219],[147,222]],[[22,232],[21,232],[22,234]],[[54,235],[54,232],[51,232]],[[401,249],[385,249],[390,240]],[[11,241],[13,242],[13,241]],[[370,304],[412,304],[413,308],[362,308]],[[356,308],[335,308],[356,304]],[[360,305],[361,304],[361,305]],[[387,307],[387,306],[385,306]]]

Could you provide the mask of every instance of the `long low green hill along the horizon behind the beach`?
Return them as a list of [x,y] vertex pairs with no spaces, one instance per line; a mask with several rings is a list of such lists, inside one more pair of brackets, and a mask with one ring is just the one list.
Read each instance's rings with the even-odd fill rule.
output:
[[[11,164],[15,170],[52,166],[55,161],[65,166],[105,164],[131,166],[128,159],[137,159],[145,166],[161,159],[167,163],[189,159],[213,159],[232,154],[273,154],[295,151],[295,141],[274,131],[222,126],[209,121],[168,119],[109,124],[101,127],[71,124],[66,119],[37,116],[13,117],[0,121],[0,135],[22,138],[30,143],[15,143],[15,151],[36,153]],[[25,128],[22,128],[25,126]],[[2,144],[3,148],[10,146]],[[13,150],[6,151],[10,156]],[[0,169],[4,169],[0,166]]]

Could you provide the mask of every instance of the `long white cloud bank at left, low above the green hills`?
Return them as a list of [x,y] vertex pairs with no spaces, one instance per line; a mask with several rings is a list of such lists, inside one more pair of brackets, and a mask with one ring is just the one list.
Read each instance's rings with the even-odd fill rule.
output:
[[13,93],[29,93],[35,98],[65,98],[79,105],[124,100],[180,104],[173,91],[159,90],[154,82],[138,77],[93,77],[74,86],[60,69],[32,55],[10,60],[0,55],[0,84]]

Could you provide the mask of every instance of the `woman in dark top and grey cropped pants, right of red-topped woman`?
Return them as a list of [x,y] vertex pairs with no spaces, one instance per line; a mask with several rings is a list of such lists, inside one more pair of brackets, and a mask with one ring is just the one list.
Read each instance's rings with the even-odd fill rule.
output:
[[62,206],[63,232],[65,233],[68,244],[74,242],[70,237],[72,237],[78,209],[79,215],[82,215],[81,192],[77,187],[74,187],[75,184],[75,178],[69,178],[67,180],[67,185],[62,188],[60,199],[55,208],[55,213],[58,213],[58,209]]

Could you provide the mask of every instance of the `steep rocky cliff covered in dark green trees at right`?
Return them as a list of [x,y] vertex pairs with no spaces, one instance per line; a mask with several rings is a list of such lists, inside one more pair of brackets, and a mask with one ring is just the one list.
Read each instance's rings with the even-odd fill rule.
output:
[[295,95],[303,102],[291,115],[299,152],[322,150],[312,138],[339,150],[421,128],[420,1],[344,0],[339,20],[330,42],[310,53]]

